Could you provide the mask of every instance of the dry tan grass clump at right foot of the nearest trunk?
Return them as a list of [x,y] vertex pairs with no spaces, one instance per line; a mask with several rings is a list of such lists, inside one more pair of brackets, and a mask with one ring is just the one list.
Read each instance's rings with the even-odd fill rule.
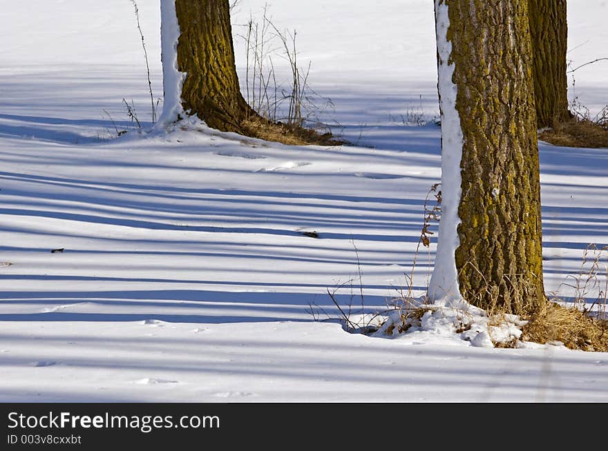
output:
[[608,320],[548,302],[524,325],[522,339],[535,343],[560,341],[569,349],[608,352]]

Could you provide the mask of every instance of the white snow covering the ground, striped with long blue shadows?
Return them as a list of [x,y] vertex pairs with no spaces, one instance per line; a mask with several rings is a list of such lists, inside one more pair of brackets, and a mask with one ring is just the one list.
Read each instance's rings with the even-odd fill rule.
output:
[[[235,11],[241,72],[238,24],[264,3]],[[6,6],[0,401],[608,401],[606,353],[492,348],[519,338],[516,317],[497,326],[471,306],[435,305],[406,334],[385,333],[389,314],[373,337],[335,320],[327,290],[353,319],[362,308],[369,318],[411,274],[421,297],[439,258],[437,228],[415,252],[442,177],[440,130],[405,114],[438,113],[433,4],[407,3],[270,6],[278,28],[297,28],[310,85],[334,103],[320,119],[357,143],[330,148],[196,122],[184,128],[198,132],[147,133],[129,1]],[[138,6],[160,97],[160,5]],[[570,8],[576,63],[605,56],[605,8]],[[582,103],[607,103],[608,66],[576,75]],[[544,278],[566,301],[574,292],[562,282],[587,244],[608,244],[607,156],[540,143]]]

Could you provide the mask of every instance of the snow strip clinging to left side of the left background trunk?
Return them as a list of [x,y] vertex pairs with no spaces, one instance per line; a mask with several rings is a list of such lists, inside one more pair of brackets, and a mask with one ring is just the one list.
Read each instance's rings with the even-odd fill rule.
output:
[[178,39],[180,25],[175,12],[175,0],[160,0],[160,42],[162,52],[162,88],[164,100],[157,126],[166,128],[184,116],[182,85],[186,74],[178,70]]

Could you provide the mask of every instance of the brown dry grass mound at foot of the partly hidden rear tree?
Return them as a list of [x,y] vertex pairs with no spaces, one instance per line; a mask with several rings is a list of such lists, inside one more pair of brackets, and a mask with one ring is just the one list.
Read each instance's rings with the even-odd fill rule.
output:
[[538,139],[561,147],[608,148],[608,121],[573,117],[543,130]]

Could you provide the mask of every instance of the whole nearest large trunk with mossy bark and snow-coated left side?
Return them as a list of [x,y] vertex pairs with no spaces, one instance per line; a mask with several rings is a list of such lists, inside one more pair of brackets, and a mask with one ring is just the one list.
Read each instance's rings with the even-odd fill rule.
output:
[[443,205],[431,299],[546,302],[527,0],[435,0]]

